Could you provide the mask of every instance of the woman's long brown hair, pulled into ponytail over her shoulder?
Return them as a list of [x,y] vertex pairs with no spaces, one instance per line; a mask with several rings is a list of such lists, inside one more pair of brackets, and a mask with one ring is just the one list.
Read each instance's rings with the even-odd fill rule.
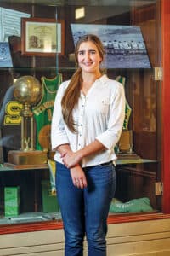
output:
[[[99,38],[93,34],[88,34],[82,36],[82,38],[79,39],[76,45],[75,49],[75,60],[77,62],[77,55],[78,50],[80,48],[80,44],[83,42],[93,42],[97,49],[99,50],[99,55],[101,59],[103,60],[105,50],[103,47],[103,44],[99,40]],[[80,96],[80,91],[82,88],[82,69],[80,67],[77,68],[77,71],[73,74],[71,77],[71,81],[65,90],[65,94],[61,100],[61,106],[62,106],[62,113],[63,118],[65,120],[65,124],[68,126],[70,131],[76,132],[76,124],[74,123],[73,117],[72,117],[72,110],[77,105],[78,98]]]

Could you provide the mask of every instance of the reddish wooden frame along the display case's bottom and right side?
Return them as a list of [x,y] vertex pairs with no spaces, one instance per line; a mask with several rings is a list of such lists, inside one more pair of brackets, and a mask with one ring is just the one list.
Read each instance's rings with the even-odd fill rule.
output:
[[[170,42],[170,30],[168,29],[168,20],[170,20],[170,15],[167,13],[167,9],[170,8],[169,0],[161,1],[161,39],[162,43],[162,67],[163,67],[163,80],[162,83],[162,93],[159,97],[162,100],[162,133],[159,135],[163,140],[162,145],[162,172],[163,172],[163,196],[162,196],[162,207],[163,212],[156,213],[130,213],[130,214],[113,214],[108,218],[108,224],[122,224],[122,223],[130,223],[130,222],[139,222],[146,221],[145,225],[147,226],[147,221],[155,221],[157,219],[167,219],[170,218],[170,73],[169,73],[169,42]],[[160,9],[159,9],[160,11]],[[160,200],[158,198],[158,200]],[[21,233],[21,232],[34,232],[34,231],[42,231],[42,230],[55,230],[62,229],[62,222],[57,221],[47,221],[41,223],[25,223],[25,224],[4,224],[1,225],[0,234],[12,234],[12,233]]]

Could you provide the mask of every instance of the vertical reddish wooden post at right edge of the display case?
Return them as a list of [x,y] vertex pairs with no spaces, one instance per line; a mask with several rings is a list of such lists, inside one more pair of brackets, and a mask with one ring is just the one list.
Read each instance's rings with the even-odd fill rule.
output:
[[162,211],[170,213],[170,1],[161,1],[161,38],[162,38],[162,180],[163,198]]

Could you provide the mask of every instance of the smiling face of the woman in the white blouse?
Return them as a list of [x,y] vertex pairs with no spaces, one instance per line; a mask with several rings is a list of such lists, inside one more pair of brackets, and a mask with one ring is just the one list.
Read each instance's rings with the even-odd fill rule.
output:
[[82,42],[78,49],[77,61],[82,72],[99,73],[99,64],[102,58],[99,55],[99,50],[96,45],[91,42]]

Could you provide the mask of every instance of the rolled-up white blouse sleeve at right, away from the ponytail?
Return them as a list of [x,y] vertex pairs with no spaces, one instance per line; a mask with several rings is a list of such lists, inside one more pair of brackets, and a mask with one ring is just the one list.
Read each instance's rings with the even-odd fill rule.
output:
[[122,133],[125,118],[125,93],[122,84],[117,85],[115,94],[111,96],[110,115],[106,131],[99,134],[96,139],[105,148],[111,149],[116,146]]

